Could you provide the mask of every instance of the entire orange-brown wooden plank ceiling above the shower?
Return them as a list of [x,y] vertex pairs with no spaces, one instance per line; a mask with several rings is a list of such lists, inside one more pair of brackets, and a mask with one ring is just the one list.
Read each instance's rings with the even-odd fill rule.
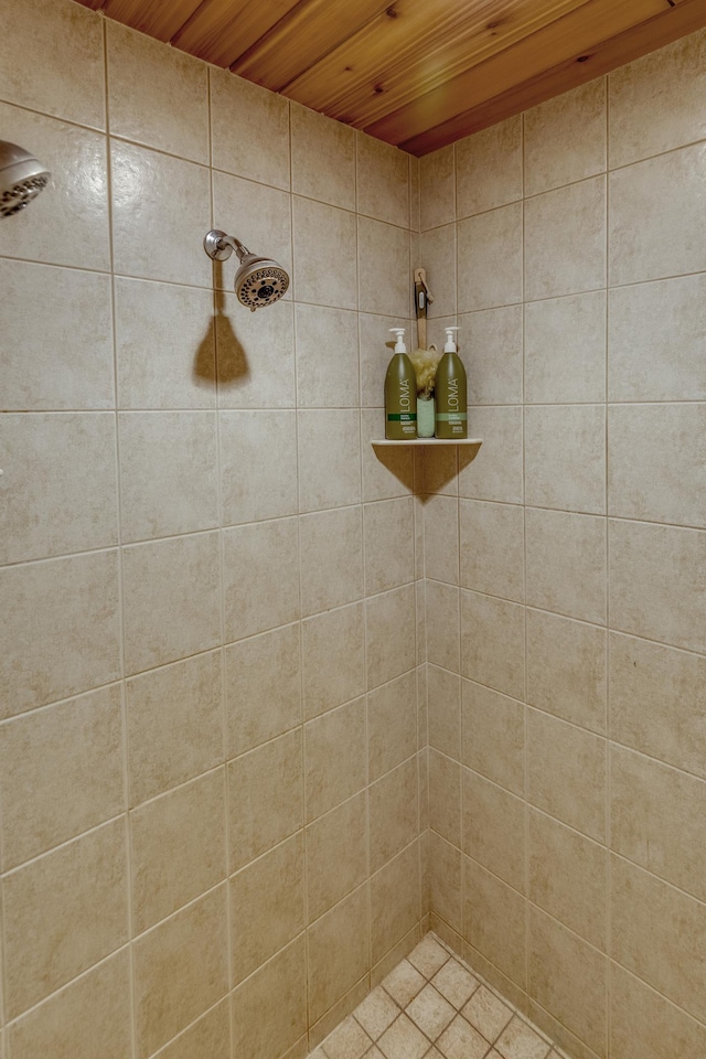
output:
[[706,0],[78,0],[426,154],[706,25]]

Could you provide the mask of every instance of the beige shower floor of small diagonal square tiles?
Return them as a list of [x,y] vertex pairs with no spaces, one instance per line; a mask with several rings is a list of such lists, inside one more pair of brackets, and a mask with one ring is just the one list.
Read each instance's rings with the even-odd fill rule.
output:
[[427,934],[309,1059],[565,1059]]

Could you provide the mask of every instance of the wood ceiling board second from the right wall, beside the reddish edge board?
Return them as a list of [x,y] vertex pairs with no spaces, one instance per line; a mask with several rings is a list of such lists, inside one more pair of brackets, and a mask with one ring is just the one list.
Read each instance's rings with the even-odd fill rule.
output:
[[668,0],[620,0],[619,3],[614,0],[588,0],[493,58],[459,74],[394,114],[365,126],[365,131],[396,146],[413,141],[434,126],[450,121],[466,110],[597,47],[609,38],[655,14],[664,13],[668,18],[676,10]]

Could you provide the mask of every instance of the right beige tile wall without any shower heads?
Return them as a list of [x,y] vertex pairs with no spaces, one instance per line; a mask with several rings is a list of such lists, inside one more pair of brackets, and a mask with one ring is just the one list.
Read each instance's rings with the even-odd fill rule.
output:
[[432,922],[576,1059],[706,1055],[704,71],[420,161],[485,439],[425,468]]

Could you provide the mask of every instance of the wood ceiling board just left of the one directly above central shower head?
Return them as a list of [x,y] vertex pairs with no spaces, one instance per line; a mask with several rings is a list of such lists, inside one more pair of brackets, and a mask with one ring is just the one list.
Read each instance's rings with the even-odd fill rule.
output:
[[[203,0],[172,44],[215,66],[233,63],[285,18],[298,0]],[[192,3],[193,6],[193,3]],[[302,42],[304,44],[306,42]]]

